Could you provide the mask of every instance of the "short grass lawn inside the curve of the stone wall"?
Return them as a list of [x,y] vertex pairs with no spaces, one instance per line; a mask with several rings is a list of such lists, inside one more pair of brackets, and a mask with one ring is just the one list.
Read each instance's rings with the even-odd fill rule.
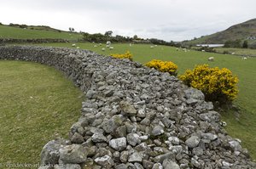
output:
[[83,93],[55,68],[24,61],[0,60],[0,84],[0,164],[38,163],[44,144],[78,121]]

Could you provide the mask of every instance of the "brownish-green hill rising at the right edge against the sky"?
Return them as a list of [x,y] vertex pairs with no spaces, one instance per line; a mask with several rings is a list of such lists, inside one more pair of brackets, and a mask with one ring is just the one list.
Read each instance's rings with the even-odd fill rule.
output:
[[[236,41],[236,40],[247,40],[247,37],[256,37],[256,19],[247,20],[241,24],[232,25],[224,31],[219,31],[212,35],[205,37],[200,37],[195,40],[185,41],[185,44],[219,44],[226,41]],[[249,44],[256,44],[255,40],[248,40]]]

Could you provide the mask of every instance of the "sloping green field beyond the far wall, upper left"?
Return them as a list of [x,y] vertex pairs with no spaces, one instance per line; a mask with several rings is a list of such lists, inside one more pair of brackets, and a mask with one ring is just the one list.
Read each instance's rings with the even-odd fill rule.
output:
[[[37,28],[39,29],[39,28]],[[77,41],[83,36],[79,33],[71,33],[67,31],[50,31],[22,29],[11,27],[7,25],[0,25],[0,38],[15,38],[15,39],[36,39],[36,38],[53,38],[53,39],[67,39]]]

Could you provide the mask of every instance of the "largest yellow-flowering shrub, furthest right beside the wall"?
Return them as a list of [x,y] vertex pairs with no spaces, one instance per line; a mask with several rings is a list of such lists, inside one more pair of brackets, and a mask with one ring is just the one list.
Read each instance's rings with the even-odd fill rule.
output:
[[194,70],[186,70],[179,78],[189,87],[201,90],[207,100],[219,101],[221,104],[236,99],[238,93],[238,78],[226,68],[197,65]]

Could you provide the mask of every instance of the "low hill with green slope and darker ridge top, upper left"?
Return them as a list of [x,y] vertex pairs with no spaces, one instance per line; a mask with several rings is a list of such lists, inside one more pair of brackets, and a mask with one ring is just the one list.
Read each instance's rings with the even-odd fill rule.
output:
[[51,28],[46,25],[0,25],[0,39],[65,39],[77,41],[83,38],[83,35],[78,32],[61,31]]

